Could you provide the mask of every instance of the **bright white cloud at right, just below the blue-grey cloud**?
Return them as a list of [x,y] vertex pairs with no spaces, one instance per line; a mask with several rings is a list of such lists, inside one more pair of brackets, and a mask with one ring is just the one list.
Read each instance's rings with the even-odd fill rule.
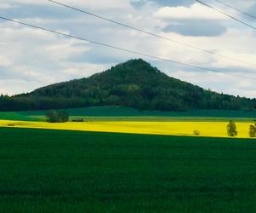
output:
[[[217,54],[211,55],[200,50],[184,47],[177,43],[160,40],[158,43],[155,43],[155,47],[152,47],[152,49],[155,49],[155,55],[166,59],[211,67],[217,70],[219,68],[230,68],[234,72],[236,72],[236,68],[255,69],[256,49],[253,47],[256,45],[256,37],[250,30],[229,29],[219,37],[183,37],[172,32],[162,33],[161,35],[163,37],[170,37],[172,40],[180,41],[181,43],[187,43],[199,49],[208,49]],[[234,60],[219,55],[227,55]]]

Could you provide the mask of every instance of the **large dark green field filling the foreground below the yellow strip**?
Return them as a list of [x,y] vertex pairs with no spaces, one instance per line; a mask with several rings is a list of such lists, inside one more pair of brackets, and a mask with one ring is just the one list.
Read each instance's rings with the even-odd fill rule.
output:
[[0,212],[256,212],[256,142],[0,129]]

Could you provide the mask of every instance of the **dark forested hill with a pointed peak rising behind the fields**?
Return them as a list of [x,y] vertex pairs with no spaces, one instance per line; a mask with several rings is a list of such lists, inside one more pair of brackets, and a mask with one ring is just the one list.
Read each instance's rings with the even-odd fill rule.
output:
[[170,78],[141,59],[129,60],[90,78],[56,83],[29,94],[0,98],[1,111],[92,106],[162,111],[255,110],[256,100],[218,94]]

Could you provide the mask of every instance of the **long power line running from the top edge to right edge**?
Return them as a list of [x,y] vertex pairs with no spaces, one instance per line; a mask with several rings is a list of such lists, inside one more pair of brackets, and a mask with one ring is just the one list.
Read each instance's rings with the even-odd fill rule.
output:
[[130,28],[131,30],[135,30],[137,32],[143,32],[143,33],[148,34],[148,35],[153,36],[153,37],[158,37],[158,38],[164,39],[164,40],[172,42],[172,43],[177,43],[179,45],[185,46],[185,47],[190,48],[190,49],[196,49],[198,51],[201,51],[201,52],[204,52],[204,53],[207,53],[207,54],[218,55],[219,57],[223,57],[223,58],[228,59],[228,60],[235,60],[236,62],[238,61],[238,62],[241,62],[241,63],[245,63],[247,65],[250,65],[250,66],[256,66],[256,64],[247,62],[245,60],[236,59],[236,58],[230,57],[228,55],[218,54],[218,53],[216,53],[214,51],[211,51],[211,50],[201,49],[201,48],[195,47],[193,45],[190,45],[188,43],[179,42],[179,41],[171,39],[169,37],[163,37],[163,36],[160,36],[159,34],[155,34],[154,32],[148,32],[148,31],[145,31],[143,29],[137,28],[135,26],[130,26],[130,25],[127,25],[125,23],[121,23],[121,22],[116,21],[116,20],[110,20],[110,19],[105,18],[103,16],[100,16],[100,15],[97,15],[97,14],[92,14],[92,13],[90,13],[88,11],[85,11],[85,10],[82,10],[82,9],[74,8],[74,7],[72,7],[70,5],[67,5],[65,3],[56,2],[54,0],[47,0],[47,1],[49,1],[51,3],[55,3],[55,4],[58,4],[58,5],[61,5],[63,7],[68,8],[68,9],[73,9],[73,10],[79,11],[80,13],[83,13],[83,14],[89,14],[90,16],[96,17],[97,19],[109,21],[109,22],[111,22],[111,23],[113,23],[115,25],[118,25],[118,26],[124,26],[126,28]]

